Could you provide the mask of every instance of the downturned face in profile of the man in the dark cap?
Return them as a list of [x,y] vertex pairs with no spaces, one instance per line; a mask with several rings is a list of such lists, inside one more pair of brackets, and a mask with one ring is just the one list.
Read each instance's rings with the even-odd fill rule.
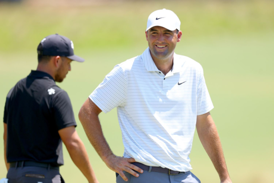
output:
[[61,65],[59,66],[59,68],[56,71],[55,74],[55,81],[56,82],[62,82],[63,79],[66,77],[66,74],[68,73],[69,70],[71,70],[71,59],[61,56],[60,57],[61,60]]

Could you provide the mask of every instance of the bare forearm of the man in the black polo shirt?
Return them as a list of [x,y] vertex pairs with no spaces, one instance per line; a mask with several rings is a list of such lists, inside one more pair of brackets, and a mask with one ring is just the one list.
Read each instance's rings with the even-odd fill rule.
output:
[[67,145],[69,155],[74,164],[80,169],[89,182],[98,182],[95,173],[89,163],[88,155],[83,142],[78,139]]

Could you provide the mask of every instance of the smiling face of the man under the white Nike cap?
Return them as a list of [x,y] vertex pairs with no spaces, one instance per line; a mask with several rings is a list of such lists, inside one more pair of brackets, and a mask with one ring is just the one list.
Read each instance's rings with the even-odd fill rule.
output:
[[146,38],[154,59],[169,59],[173,57],[176,43],[181,40],[182,31],[169,30],[162,26],[154,26],[146,31]]

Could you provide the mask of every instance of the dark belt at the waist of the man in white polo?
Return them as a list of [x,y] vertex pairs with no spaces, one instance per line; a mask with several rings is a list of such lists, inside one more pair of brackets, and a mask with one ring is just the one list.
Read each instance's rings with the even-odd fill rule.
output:
[[169,175],[174,175],[174,174],[179,174],[179,173],[188,173],[189,171],[183,172],[183,171],[174,171],[172,169],[168,168],[163,168],[161,166],[147,166],[143,163],[140,162],[132,162],[135,166],[138,166],[139,168],[145,170],[145,171],[155,171],[155,172],[160,172],[160,173],[168,173]]

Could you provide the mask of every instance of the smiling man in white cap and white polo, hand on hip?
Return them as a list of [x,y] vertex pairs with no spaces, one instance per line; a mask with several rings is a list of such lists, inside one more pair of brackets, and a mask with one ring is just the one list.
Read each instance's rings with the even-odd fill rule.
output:
[[[152,12],[145,32],[148,48],[117,64],[79,111],[90,142],[116,172],[116,182],[201,182],[190,172],[195,127],[221,182],[232,182],[210,115],[213,104],[203,68],[174,53],[182,36],[180,23],[171,10]],[[98,118],[115,107],[123,157],[111,151]]]

